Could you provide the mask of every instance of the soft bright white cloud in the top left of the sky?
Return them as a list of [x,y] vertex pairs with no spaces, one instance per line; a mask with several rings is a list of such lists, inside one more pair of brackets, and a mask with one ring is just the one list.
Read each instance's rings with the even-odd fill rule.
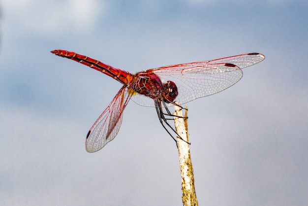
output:
[[3,20],[20,31],[34,34],[61,34],[92,30],[105,4],[98,0],[11,0],[3,3]]

